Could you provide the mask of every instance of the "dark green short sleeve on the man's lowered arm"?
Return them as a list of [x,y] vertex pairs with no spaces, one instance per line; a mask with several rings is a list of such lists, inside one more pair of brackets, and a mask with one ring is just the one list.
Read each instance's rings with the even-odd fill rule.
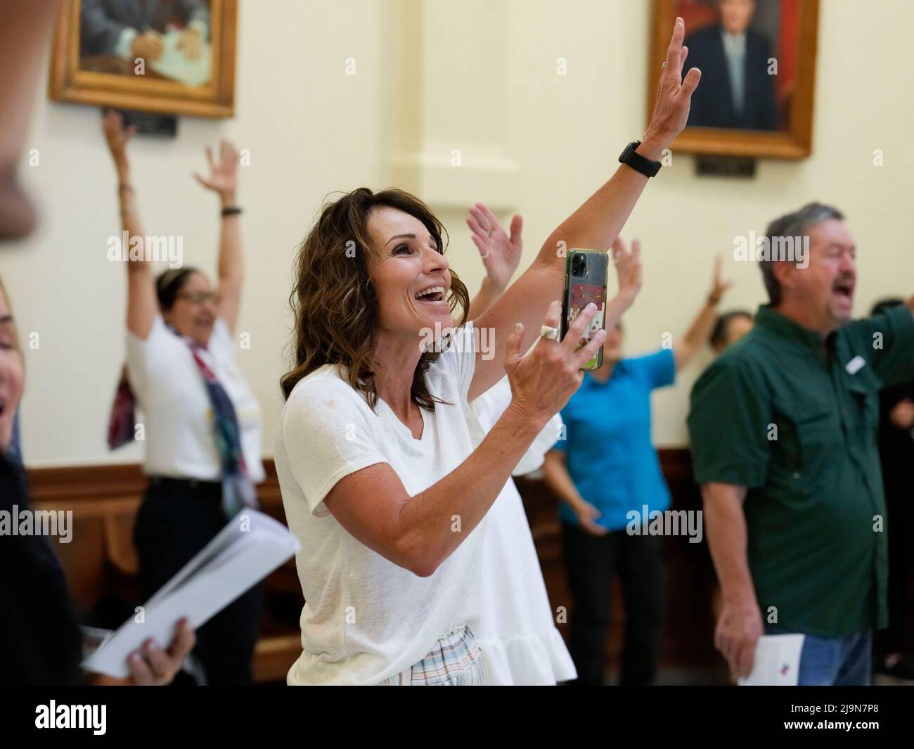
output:
[[692,390],[688,429],[695,480],[761,487],[768,474],[771,399],[747,362],[718,358]]

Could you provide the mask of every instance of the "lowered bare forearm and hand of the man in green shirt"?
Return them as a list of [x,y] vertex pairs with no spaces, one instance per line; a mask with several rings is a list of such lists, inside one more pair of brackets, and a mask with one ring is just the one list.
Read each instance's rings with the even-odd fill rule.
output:
[[755,646],[764,634],[747,557],[746,487],[703,484],[707,544],[720,581],[723,606],[714,631],[714,645],[727,658],[734,677],[749,676]]

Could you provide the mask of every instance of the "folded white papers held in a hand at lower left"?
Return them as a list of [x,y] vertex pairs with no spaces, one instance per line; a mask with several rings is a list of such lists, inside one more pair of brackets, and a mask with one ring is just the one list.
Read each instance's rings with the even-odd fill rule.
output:
[[282,523],[257,510],[240,512],[146,602],[142,622],[135,617],[124,622],[83,661],[83,668],[127,677],[127,656],[146,638],[168,647],[179,619],[186,617],[195,629],[205,624],[300,548]]

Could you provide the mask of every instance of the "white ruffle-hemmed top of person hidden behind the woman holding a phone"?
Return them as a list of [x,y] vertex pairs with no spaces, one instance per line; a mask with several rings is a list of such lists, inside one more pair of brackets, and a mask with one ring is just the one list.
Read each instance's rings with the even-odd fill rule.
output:
[[[505,377],[471,404],[480,434],[488,433],[511,402]],[[558,413],[514,470],[522,476],[543,464],[556,443]],[[540,686],[576,679],[578,672],[559,634],[530,534],[524,503],[512,479],[485,516],[480,617],[470,623],[494,685]]]

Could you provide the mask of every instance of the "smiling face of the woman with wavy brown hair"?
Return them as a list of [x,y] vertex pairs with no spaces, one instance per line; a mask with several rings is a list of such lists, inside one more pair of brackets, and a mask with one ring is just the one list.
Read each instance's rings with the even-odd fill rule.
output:
[[[377,332],[414,337],[452,325],[451,272],[435,238],[414,216],[383,206],[368,219],[368,273],[377,294]],[[437,327],[436,327],[437,326]]]

